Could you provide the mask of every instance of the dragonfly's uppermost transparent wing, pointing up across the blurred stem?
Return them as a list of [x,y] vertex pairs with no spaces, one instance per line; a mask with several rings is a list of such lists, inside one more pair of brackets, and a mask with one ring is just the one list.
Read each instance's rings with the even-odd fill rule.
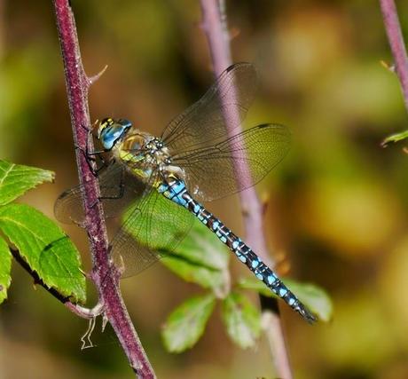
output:
[[225,119],[231,129],[239,127],[255,97],[256,83],[251,64],[237,63],[227,68],[199,101],[163,131],[161,138],[170,152],[183,153],[225,139]]

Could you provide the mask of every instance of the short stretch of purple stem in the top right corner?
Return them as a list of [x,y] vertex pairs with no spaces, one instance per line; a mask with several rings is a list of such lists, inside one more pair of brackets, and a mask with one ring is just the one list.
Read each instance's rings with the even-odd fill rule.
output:
[[398,13],[396,12],[396,4],[394,0],[380,0],[380,4],[388,42],[396,64],[396,75],[398,75],[401,83],[405,108],[408,112],[408,57],[401,26],[399,25]]

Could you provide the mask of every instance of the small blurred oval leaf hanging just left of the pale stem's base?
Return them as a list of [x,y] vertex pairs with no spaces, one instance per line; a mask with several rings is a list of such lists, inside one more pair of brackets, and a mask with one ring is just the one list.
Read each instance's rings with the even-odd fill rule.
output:
[[261,313],[238,292],[231,292],[223,301],[223,320],[227,333],[242,349],[254,346],[261,333]]

